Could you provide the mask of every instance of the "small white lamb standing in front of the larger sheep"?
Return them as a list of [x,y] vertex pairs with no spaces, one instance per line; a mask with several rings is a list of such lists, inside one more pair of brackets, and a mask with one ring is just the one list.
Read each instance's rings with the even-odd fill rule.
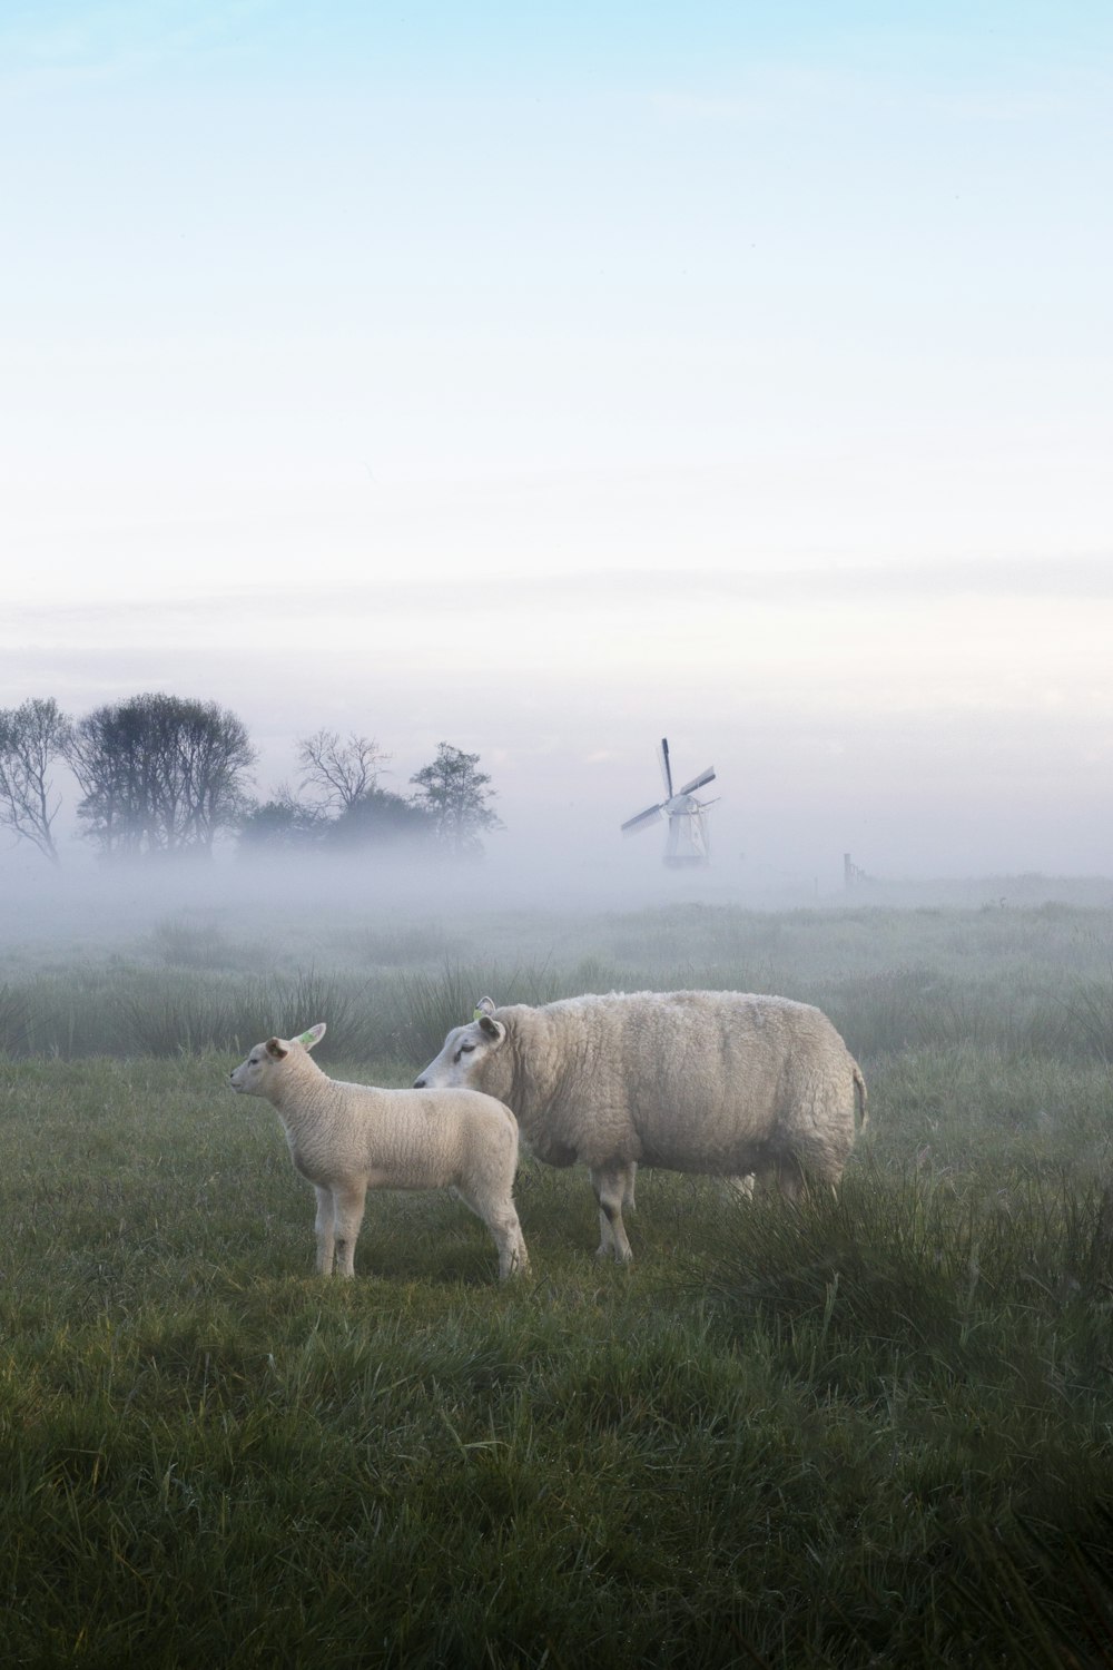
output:
[[324,1020],[297,1039],[267,1039],[229,1074],[240,1096],[279,1114],[294,1169],[317,1192],[317,1273],[354,1276],[367,1189],[447,1189],[482,1217],[499,1278],[529,1268],[514,1209],[517,1121],[479,1091],[380,1091],[329,1079],[310,1060]]

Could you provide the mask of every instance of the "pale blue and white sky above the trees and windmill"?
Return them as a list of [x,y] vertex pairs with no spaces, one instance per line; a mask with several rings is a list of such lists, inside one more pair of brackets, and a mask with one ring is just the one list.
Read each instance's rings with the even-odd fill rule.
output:
[[0,706],[1113,873],[1108,5],[7,0],[0,200]]

